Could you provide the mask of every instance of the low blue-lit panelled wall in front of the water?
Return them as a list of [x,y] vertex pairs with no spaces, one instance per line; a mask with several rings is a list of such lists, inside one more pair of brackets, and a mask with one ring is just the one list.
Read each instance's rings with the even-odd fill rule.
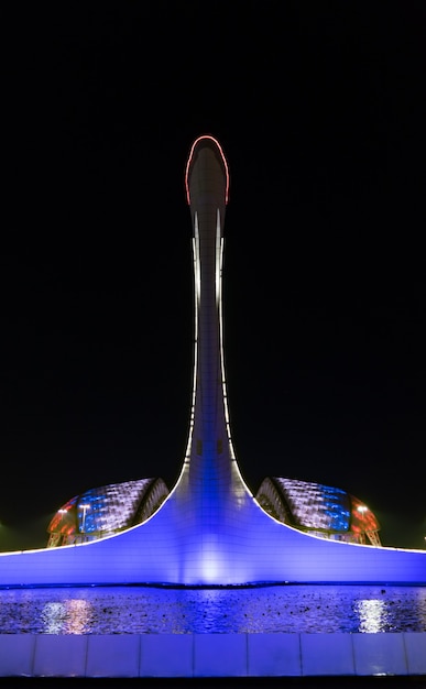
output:
[[426,633],[0,634],[0,677],[426,675]]

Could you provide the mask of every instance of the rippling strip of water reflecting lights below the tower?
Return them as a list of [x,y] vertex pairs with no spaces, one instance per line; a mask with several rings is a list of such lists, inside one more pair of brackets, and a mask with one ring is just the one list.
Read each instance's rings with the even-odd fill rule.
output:
[[0,590],[1,634],[426,632],[426,587]]

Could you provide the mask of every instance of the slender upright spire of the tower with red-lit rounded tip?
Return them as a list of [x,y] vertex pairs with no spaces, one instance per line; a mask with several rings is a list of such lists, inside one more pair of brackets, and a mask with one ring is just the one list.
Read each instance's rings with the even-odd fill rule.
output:
[[[211,510],[222,512],[231,494],[248,492],[234,458],[222,347],[223,223],[229,169],[219,142],[194,142],[185,186],[193,223],[195,362],[188,446],[183,481]],[[182,477],[183,479],[184,477]]]

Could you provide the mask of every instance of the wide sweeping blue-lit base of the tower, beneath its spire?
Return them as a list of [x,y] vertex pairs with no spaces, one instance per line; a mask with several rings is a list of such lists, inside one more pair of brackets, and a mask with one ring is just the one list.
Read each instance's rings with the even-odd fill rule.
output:
[[145,524],[94,543],[0,555],[0,586],[426,584],[426,553],[325,540],[249,501],[215,531],[172,495]]

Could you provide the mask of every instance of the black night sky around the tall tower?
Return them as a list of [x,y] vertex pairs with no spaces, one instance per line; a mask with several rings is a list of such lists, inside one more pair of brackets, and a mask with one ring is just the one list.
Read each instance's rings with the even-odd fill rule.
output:
[[266,475],[426,536],[424,2],[15,7],[3,19],[0,549],[90,488],[179,472],[184,171],[230,168],[231,428]]

